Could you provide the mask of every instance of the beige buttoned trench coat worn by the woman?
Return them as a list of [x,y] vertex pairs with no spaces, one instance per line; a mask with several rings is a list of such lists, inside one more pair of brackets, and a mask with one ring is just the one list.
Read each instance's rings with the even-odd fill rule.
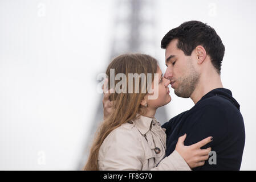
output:
[[140,115],[105,138],[99,150],[99,169],[191,170],[177,151],[164,158],[165,150],[166,134],[160,123]]

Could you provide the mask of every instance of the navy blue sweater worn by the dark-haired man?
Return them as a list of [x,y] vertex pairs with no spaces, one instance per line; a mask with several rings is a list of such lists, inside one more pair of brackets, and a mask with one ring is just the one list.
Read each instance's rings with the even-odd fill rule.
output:
[[212,147],[217,164],[206,161],[193,170],[239,170],[245,146],[245,126],[239,107],[229,89],[218,88],[205,94],[190,110],[162,125],[166,129],[166,156],[172,154],[178,137],[184,133],[185,146],[213,137],[202,148]]

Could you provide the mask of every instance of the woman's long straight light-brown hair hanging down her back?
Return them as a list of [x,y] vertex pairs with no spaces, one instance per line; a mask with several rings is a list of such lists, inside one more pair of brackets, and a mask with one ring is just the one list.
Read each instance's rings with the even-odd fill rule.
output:
[[[121,126],[123,123],[136,119],[137,113],[141,112],[141,101],[144,96],[148,92],[147,85],[151,85],[154,73],[157,72],[158,63],[157,60],[149,55],[144,55],[140,53],[136,54],[124,54],[117,56],[112,62],[108,65],[106,74],[108,78],[110,77],[110,69],[115,69],[115,76],[118,73],[124,73],[127,80],[127,92],[126,93],[112,93],[110,96],[111,101],[115,101],[113,104],[113,113],[109,115],[108,118],[105,118],[101,123],[99,128],[96,131],[94,142],[92,143],[92,147],[90,150],[90,154],[88,156],[88,160],[83,170],[89,171],[97,171],[98,167],[98,156],[100,146],[103,143],[104,139],[108,136],[111,131],[115,130],[117,127]],[[139,79],[139,93],[135,92],[135,89],[138,88],[138,85],[135,85],[135,81],[133,80],[133,92],[128,93],[128,73],[137,73],[140,75],[141,73],[145,73],[146,78],[147,74],[152,74],[152,80],[147,80],[147,84]],[[131,81],[131,80],[130,80]],[[150,81],[150,82],[149,82]],[[119,82],[119,80],[115,80],[115,86]],[[110,87],[110,81],[108,82],[108,88]],[[140,89],[141,88],[141,89]],[[141,92],[141,90],[147,90],[145,92]]]

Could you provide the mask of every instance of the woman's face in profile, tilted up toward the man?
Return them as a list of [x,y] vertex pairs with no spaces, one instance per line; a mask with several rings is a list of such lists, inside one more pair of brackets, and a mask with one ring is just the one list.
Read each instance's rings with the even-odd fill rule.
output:
[[[146,99],[148,107],[157,109],[158,107],[164,106],[172,100],[172,98],[169,95],[169,88],[168,85],[170,85],[170,80],[166,79],[162,75],[161,69],[158,67],[157,69],[158,74],[158,80],[157,77],[152,82],[152,89],[153,93],[147,93]],[[156,82],[157,81],[157,82]],[[154,88],[156,86],[156,88]],[[156,99],[149,99],[150,95],[156,94]]]

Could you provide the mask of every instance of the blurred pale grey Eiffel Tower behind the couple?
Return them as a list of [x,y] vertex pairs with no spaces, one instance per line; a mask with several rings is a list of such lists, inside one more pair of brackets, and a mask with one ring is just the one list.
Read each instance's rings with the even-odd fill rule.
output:
[[[111,47],[112,60],[117,55],[128,52],[141,52],[147,53],[156,57],[157,43],[155,42],[155,11],[153,0],[123,0],[117,1],[115,11],[116,19],[113,28],[113,39]],[[82,159],[79,161],[78,170],[82,169],[87,161],[88,147],[95,136],[95,131],[99,126],[99,123],[103,121],[103,94],[101,95],[100,103],[97,105],[95,117],[88,134],[86,142],[86,154],[83,151]],[[168,121],[166,116],[165,107],[157,109],[155,117],[160,123]]]

